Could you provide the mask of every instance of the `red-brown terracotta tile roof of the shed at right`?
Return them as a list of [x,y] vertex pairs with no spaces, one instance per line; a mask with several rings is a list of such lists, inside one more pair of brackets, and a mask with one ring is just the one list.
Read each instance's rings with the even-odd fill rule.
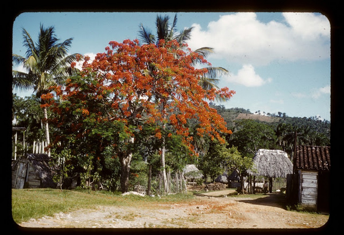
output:
[[330,150],[329,146],[296,146],[294,166],[303,170],[329,171]]

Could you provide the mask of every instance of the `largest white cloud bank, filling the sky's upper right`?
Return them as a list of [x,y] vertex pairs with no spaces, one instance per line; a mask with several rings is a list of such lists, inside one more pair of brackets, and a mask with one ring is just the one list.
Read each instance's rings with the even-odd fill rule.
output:
[[323,15],[284,13],[287,23],[260,22],[255,13],[220,16],[207,29],[193,24],[189,47],[213,47],[212,57],[241,64],[273,60],[318,60],[330,57],[330,23]]

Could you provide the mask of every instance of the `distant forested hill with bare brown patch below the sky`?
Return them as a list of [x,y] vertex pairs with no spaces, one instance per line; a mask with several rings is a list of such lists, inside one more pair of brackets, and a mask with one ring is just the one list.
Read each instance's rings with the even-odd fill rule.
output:
[[286,113],[281,112],[278,112],[278,114],[260,111],[251,113],[250,110],[245,110],[243,108],[226,109],[224,105],[214,105],[213,103],[210,103],[210,105],[224,118],[227,123],[227,128],[232,130],[235,128],[236,120],[251,119],[258,122],[264,122],[275,128],[279,124],[285,123],[298,129],[309,129],[325,134],[330,139],[331,123],[327,120],[322,121],[316,117],[289,117]]

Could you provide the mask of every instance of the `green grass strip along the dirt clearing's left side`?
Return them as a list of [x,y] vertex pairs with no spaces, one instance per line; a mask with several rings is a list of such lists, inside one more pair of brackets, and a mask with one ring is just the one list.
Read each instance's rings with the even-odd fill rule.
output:
[[70,212],[80,208],[97,206],[147,206],[150,203],[182,203],[193,200],[191,193],[171,194],[159,197],[122,196],[120,193],[99,191],[58,190],[48,188],[12,189],[12,217],[21,223],[31,218],[53,216],[59,212]]

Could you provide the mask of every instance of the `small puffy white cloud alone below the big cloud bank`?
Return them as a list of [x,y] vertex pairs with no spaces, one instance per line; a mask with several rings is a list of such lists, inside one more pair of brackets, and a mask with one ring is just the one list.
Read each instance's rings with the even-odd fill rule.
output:
[[238,74],[228,76],[229,82],[238,83],[244,86],[261,86],[266,82],[271,82],[271,78],[263,80],[258,74],[256,74],[254,67],[251,64],[244,64],[238,71]]

